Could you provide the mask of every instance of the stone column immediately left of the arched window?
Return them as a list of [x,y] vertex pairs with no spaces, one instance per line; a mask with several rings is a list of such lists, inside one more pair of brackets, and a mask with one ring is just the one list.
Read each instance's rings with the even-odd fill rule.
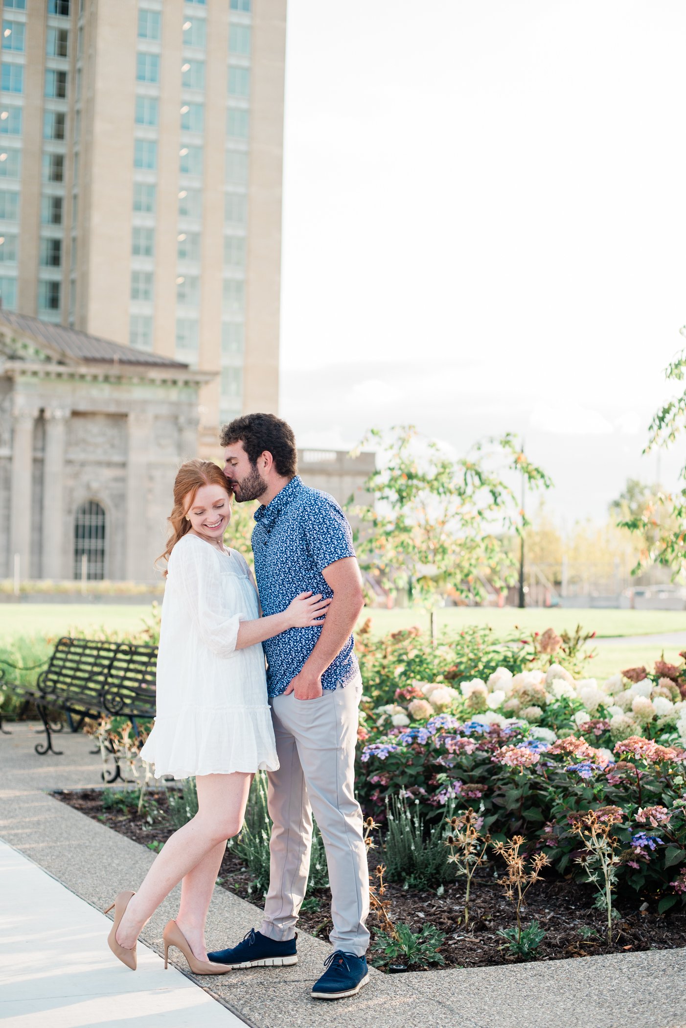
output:
[[72,553],[65,540],[65,442],[67,419],[71,411],[60,408],[43,411],[45,445],[43,450],[43,538],[41,574],[47,579],[71,578]]

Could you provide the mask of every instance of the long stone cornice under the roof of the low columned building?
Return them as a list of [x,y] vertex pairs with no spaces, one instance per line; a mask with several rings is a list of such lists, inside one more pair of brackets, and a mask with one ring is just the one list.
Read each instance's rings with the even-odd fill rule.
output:
[[79,363],[74,366],[51,364],[49,362],[3,361],[0,362],[0,374],[10,378],[66,378],[80,381],[127,381],[127,382],[164,382],[175,384],[202,386],[219,374],[218,371],[201,371],[193,368],[157,367],[156,365],[123,365],[108,363]]

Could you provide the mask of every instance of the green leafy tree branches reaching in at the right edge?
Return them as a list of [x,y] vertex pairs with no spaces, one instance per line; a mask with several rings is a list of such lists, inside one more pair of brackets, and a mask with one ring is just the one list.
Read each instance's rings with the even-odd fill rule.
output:
[[[686,326],[680,331],[686,336]],[[686,350],[682,350],[668,365],[664,377],[668,381],[684,382]],[[677,395],[662,404],[653,415],[648,429],[648,443],[643,452],[650,453],[657,446],[671,446],[685,427],[686,387],[680,386]],[[630,506],[626,515],[618,523],[643,537],[641,556],[634,568],[635,573],[652,563],[659,563],[672,568],[673,579],[683,574],[686,571],[686,465],[681,469],[679,485],[674,492],[666,492],[658,487],[646,499],[645,506],[640,503],[634,509]]]

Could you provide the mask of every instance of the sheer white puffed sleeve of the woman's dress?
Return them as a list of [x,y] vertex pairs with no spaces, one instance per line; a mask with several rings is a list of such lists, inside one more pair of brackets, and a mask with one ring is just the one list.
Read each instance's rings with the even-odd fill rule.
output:
[[209,544],[182,539],[172,551],[168,572],[201,641],[218,657],[231,657],[240,622],[247,619],[222,607],[221,575]]

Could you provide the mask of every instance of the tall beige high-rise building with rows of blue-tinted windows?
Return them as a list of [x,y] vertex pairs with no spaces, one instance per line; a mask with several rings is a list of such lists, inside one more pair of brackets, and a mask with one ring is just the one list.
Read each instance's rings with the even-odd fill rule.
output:
[[276,410],[285,0],[4,0],[0,295]]

